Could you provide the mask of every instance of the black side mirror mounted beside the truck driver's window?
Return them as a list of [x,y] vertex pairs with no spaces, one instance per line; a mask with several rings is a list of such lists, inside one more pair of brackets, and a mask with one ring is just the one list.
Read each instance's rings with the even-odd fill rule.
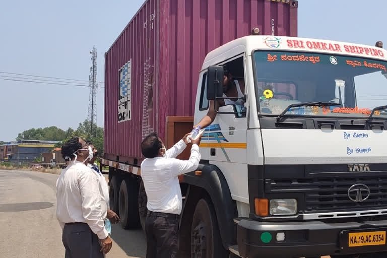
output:
[[215,100],[223,96],[223,67],[209,67],[207,69],[207,99]]

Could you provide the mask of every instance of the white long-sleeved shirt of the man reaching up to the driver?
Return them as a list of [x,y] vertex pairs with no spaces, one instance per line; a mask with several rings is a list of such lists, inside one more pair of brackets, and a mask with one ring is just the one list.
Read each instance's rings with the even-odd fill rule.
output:
[[180,214],[182,208],[178,175],[194,171],[199,166],[199,146],[192,145],[189,160],[175,159],[186,144],[180,140],[166,151],[165,157],[145,159],[141,164],[141,177],[148,197],[147,208],[152,212]]

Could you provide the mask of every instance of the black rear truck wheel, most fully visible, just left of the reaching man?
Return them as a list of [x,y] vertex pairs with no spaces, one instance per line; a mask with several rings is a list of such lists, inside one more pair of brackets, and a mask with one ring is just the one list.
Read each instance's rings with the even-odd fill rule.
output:
[[121,226],[124,229],[139,228],[139,184],[135,180],[123,179],[119,188],[118,210]]

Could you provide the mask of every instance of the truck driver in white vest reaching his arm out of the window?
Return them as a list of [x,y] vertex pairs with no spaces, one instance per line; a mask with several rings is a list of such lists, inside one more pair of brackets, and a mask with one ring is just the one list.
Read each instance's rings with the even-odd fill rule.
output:
[[244,110],[244,100],[242,99],[244,97],[244,80],[234,79],[226,65],[223,66],[223,70],[223,98],[235,99],[210,100],[210,108],[208,109],[207,115],[198,124],[194,125],[193,128],[199,125],[202,129],[209,126],[215,120],[217,114],[216,109],[226,105],[234,105],[239,116],[244,116],[240,114]]

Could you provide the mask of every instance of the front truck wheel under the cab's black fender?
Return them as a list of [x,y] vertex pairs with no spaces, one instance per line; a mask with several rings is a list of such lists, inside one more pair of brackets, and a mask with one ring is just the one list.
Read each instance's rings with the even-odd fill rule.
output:
[[214,206],[201,199],[196,205],[191,226],[191,258],[227,257],[223,248]]

